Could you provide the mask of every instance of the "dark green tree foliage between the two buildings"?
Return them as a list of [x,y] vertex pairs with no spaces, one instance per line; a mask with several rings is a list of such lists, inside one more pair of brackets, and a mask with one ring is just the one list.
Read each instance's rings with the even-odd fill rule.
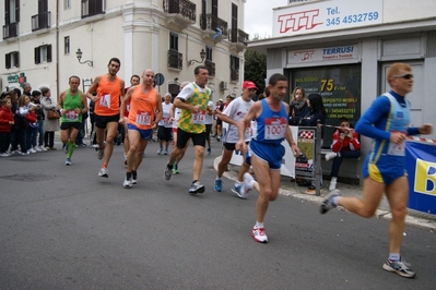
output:
[[264,90],[264,78],[267,77],[267,56],[252,49],[247,49],[244,55],[244,80],[254,82],[261,94]]

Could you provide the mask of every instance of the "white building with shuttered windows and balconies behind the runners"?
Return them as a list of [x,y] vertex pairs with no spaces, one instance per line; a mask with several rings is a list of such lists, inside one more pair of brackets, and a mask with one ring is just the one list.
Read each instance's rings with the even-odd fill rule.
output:
[[0,5],[0,87],[26,81],[34,89],[48,86],[59,93],[68,88],[69,76],[78,75],[86,89],[117,57],[118,76],[127,86],[132,74],[150,68],[164,75],[160,92],[175,95],[202,63],[215,100],[239,94],[248,40],[245,1],[5,0]]

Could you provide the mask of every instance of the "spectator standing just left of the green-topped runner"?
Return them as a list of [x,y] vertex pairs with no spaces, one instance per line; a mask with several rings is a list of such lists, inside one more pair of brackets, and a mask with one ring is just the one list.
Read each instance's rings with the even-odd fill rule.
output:
[[44,143],[45,147],[48,150],[56,150],[55,148],[55,131],[59,131],[59,119],[47,118],[49,110],[56,110],[56,98],[51,97],[51,92],[48,87],[42,87],[40,93],[43,94],[43,98],[40,99],[40,105],[44,109],[44,114],[46,116],[44,120]]

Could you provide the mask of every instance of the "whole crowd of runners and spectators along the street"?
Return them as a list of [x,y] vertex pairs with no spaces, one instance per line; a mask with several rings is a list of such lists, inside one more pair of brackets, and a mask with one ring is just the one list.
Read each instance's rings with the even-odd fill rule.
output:
[[[224,102],[214,104],[211,89],[207,86],[209,71],[199,65],[195,69],[195,81],[185,82],[174,98],[164,98],[154,88],[154,72],[150,69],[142,75],[133,75],[131,86],[125,89],[125,82],[117,76],[121,62],[109,60],[108,72],[94,78],[87,92],[79,89],[80,78],[72,75],[69,88],[57,98],[50,89],[42,87],[32,90],[30,84],[23,92],[15,88],[4,92],[0,102],[0,156],[12,154],[30,155],[39,150],[54,150],[55,132],[61,131],[61,142],[66,144],[66,165],[72,165],[75,141],[89,112],[86,98],[93,104],[93,124],[96,132],[97,158],[103,160],[98,176],[108,178],[114,141],[119,138],[119,128],[125,130],[126,176],[122,186],[132,188],[138,183],[138,170],[144,150],[157,131],[158,155],[167,155],[164,178],[169,181],[179,172],[178,164],[192,144],[195,158],[192,181],[188,192],[203,193],[200,181],[204,154],[211,154],[210,138],[223,140],[222,158],[213,189],[223,190],[222,176],[235,150],[241,153],[244,162],[232,191],[246,198],[248,192],[256,190],[256,222],[251,237],[260,243],[268,242],[264,217],[269,203],[278,198],[281,184],[281,162],[285,154],[282,142],[286,141],[292,154],[298,156],[299,148],[288,125],[315,126],[323,124],[326,109],[319,94],[306,97],[303,87],[295,87],[291,102],[283,101],[288,89],[287,78],[280,73],[269,78],[269,84],[258,101],[252,98],[258,88],[254,82],[243,83],[243,93],[235,98],[227,96]],[[333,133],[331,152],[326,160],[332,160],[331,191],[320,206],[320,213],[342,206],[362,217],[372,217],[384,193],[389,201],[392,219],[389,223],[389,256],[382,268],[403,277],[414,277],[401,254],[408,201],[408,179],[404,171],[404,141],[408,135],[429,134],[432,124],[420,128],[409,126],[410,102],[405,95],[412,90],[413,74],[410,65],[392,64],[387,72],[387,81],[392,88],[378,97],[362,116],[355,130],[347,119],[341,119]],[[61,124],[59,125],[59,118]],[[223,134],[223,122],[227,130]],[[256,125],[256,130],[251,128]],[[343,158],[360,157],[358,135],[374,140],[374,146],[366,155],[363,168],[363,194],[361,198],[341,196],[337,190],[339,168]],[[173,141],[173,147],[169,144]],[[44,145],[43,145],[44,144]],[[208,149],[207,148],[208,144]],[[320,165],[315,165],[320,166]],[[255,178],[248,172],[252,167]],[[309,183],[310,186],[314,184]]]

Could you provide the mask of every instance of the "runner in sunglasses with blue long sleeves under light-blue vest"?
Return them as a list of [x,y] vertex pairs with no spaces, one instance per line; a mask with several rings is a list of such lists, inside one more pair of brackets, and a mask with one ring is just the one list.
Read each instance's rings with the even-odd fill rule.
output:
[[415,273],[400,255],[404,231],[409,183],[404,170],[404,142],[408,135],[431,134],[432,124],[409,126],[410,104],[405,95],[412,90],[412,69],[405,63],[393,63],[386,78],[391,92],[378,97],[356,124],[356,132],[373,138],[364,162],[362,198],[340,196],[333,190],[322,203],[327,213],[341,205],[362,217],[374,216],[384,192],[389,201],[392,219],[389,222],[389,257],[382,265],[388,271],[412,278]]

